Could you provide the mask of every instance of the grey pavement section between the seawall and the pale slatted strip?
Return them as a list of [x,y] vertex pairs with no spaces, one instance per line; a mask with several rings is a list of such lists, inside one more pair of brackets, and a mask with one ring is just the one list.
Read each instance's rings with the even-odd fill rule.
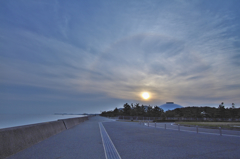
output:
[[98,122],[112,121],[92,117],[71,129],[56,134],[9,159],[105,159]]

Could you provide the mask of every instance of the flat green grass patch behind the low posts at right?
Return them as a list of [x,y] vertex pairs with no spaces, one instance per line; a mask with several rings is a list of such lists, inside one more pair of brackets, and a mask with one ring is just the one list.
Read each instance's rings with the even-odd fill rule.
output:
[[175,122],[184,126],[196,126],[207,127],[207,128],[223,128],[223,129],[234,129],[240,130],[240,122]]

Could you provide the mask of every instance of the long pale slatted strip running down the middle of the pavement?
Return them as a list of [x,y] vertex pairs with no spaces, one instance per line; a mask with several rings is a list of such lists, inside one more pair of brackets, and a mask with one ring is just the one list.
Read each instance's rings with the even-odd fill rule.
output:
[[99,129],[106,159],[121,159],[116,147],[114,146],[111,138],[101,122],[99,122]]

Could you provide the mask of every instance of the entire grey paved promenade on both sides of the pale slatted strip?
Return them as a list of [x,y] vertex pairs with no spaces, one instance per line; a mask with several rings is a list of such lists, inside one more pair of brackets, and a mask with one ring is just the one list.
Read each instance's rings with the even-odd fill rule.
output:
[[147,127],[137,122],[90,120],[52,136],[10,159],[104,159],[99,122],[102,122],[122,159],[239,158],[240,138]]

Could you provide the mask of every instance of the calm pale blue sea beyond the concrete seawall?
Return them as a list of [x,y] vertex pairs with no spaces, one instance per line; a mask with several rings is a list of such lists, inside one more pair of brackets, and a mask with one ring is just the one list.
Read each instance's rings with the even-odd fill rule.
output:
[[0,114],[0,129],[83,116],[85,115]]

